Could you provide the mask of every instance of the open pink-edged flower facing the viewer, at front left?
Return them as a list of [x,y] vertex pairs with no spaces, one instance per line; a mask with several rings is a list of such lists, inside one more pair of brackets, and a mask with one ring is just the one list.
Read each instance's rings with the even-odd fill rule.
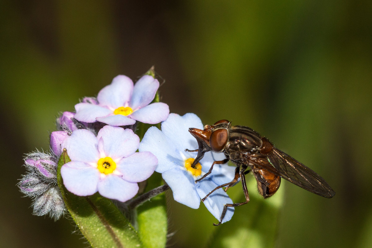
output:
[[97,191],[125,202],[138,192],[138,182],[153,174],[158,163],[151,152],[135,152],[140,138],[131,130],[104,126],[97,137],[78,129],[62,142],[71,162],[61,167],[66,189],[78,196]]

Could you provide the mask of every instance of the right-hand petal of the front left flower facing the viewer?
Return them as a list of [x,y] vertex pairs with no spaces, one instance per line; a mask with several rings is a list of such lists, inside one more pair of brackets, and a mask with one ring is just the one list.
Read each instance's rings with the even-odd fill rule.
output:
[[141,182],[149,178],[156,168],[158,160],[151,152],[135,152],[128,158],[116,163],[116,170],[128,182]]

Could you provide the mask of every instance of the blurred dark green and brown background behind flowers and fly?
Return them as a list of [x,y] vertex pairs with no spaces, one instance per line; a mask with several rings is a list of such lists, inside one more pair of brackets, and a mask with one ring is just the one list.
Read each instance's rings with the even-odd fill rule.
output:
[[[68,220],[31,215],[15,186],[22,156],[48,149],[58,112],[152,65],[171,112],[250,126],[336,191],[325,199],[283,180],[279,219],[257,211],[254,220],[278,228],[275,247],[372,247],[372,1],[0,5],[1,247],[87,247]],[[254,186],[250,195],[260,201]],[[198,225],[215,228],[215,219],[204,207],[173,205],[169,246],[205,245]],[[235,212],[232,231],[253,221],[243,216],[251,206]]]

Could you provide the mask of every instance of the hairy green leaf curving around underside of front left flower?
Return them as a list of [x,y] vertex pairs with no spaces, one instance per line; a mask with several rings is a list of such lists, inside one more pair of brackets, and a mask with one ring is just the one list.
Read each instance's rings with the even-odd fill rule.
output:
[[58,161],[57,180],[68,212],[92,247],[142,247],[138,233],[107,198],[76,196],[65,189],[61,167],[71,161],[66,150]]

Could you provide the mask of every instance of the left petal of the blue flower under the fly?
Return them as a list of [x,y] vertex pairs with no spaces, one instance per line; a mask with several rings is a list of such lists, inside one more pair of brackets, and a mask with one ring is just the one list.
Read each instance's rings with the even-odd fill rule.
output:
[[138,150],[140,152],[149,151],[157,157],[158,166],[155,171],[159,173],[177,167],[183,162],[176,147],[172,145],[164,133],[154,126],[147,130]]

